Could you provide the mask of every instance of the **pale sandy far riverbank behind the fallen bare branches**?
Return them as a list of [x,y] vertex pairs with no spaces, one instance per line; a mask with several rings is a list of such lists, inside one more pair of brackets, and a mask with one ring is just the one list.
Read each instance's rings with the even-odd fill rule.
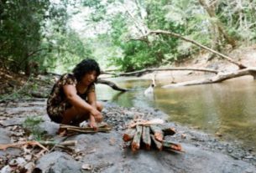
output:
[[[240,47],[229,51],[224,51],[224,54],[229,56],[233,61],[245,65],[246,67],[256,67],[256,44],[250,47]],[[213,69],[222,73],[235,71],[238,66],[222,59],[214,57],[209,60],[210,53],[201,51],[196,55],[192,55],[190,59],[184,59],[184,61],[175,62],[174,64],[168,64],[162,68],[193,68],[193,69]],[[188,81],[191,79],[199,79],[211,76],[214,74],[200,72],[200,71],[159,71],[156,73],[155,79],[166,79],[169,78],[167,84],[179,83]],[[151,74],[145,74],[142,76],[143,79],[151,79]]]

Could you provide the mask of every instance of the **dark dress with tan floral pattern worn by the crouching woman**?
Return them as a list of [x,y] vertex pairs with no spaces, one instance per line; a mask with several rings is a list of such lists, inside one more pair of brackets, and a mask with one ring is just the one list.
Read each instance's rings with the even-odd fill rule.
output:
[[[47,100],[47,114],[49,115],[50,120],[55,121],[55,123],[60,123],[65,110],[72,107],[72,104],[66,98],[63,90],[63,86],[66,84],[72,84],[76,87],[77,80],[73,74],[63,74],[55,83]],[[77,94],[81,99],[86,101],[87,95],[90,92],[95,92],[94,84],[88,86],[84,94]]]

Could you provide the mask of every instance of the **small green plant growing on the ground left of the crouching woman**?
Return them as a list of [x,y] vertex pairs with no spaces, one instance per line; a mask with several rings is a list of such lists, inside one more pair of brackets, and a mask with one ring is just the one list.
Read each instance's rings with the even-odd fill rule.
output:
[[44,122],[40,116],[31,116],[24,120],[24,128],[34,136],[35,140],[42,140],[44,131],[39,128],[40,123]]

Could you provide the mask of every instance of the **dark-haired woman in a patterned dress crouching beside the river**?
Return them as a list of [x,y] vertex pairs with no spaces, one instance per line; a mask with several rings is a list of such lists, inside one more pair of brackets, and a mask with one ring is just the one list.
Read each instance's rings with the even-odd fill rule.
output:
[[[79,125],[89,120],[92,128],[102,121],[102,104],[97,102],[95,82],[101,70],[93,59],[84,59],[72,74],[63,74],[55,83],[47,100],[50,120],[63,125]],[[65,135],[65,130],[59,130]]]

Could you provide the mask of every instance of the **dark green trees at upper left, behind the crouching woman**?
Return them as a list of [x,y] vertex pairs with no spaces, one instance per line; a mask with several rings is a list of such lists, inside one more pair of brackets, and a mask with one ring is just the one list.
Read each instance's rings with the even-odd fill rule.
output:
[[[70,67],[91,50],[66,25],[73,1],[2,1],[0,61],[3,68],[25,74]],[[31,64],[37,64],[34,69]],[[63,67],[62,64],[66,66]],[[71,64],[72,66],[73,64]],[[69,68],[70,69],[70,68]]]

